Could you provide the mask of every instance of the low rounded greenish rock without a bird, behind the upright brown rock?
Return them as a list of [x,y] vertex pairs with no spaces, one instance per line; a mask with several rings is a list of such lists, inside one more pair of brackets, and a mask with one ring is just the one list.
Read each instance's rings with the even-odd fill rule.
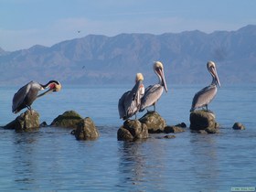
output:
[[50,126],[76,129],[82,119],[79,113],[67,111],[55,118]]

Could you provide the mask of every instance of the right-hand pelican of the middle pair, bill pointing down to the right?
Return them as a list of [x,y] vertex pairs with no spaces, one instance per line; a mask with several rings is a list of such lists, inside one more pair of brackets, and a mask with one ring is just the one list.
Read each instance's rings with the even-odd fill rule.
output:
[[155,71],[155,74],[158,76],[159,82],[155,85],[150,85],[145,89],[140,112],[143,112],[145,108],[152,105],[154,106],[155,112],[156,101],[160,99],[164,89],[167,92],[163,64],[160,61],[155,61],[153,69]]

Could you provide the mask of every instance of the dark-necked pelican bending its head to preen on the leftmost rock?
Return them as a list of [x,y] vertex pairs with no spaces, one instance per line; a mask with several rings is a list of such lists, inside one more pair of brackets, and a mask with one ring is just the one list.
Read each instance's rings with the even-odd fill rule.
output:
[[[48,88],[48,91],[45,91],[37,95],[38,91],[45,90]],[[13,98],[13,112],[20,112],[22,109],[26,108],[31,110],[31,105],[38,97],[41,97],[47,94],[50,91],[60,91],[61,85],[56,80],[50,80],[46,85],[39,84],[35,81],[30,81],[27,85],[23,86],[16,92]]]

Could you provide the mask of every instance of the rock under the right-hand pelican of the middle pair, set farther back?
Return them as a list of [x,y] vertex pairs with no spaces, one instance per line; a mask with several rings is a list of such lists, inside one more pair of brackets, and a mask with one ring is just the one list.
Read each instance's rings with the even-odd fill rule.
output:
[[146,124],[148,133],[163,133],[165,130],[165,120],[157,112],[147,112],[139,121]]

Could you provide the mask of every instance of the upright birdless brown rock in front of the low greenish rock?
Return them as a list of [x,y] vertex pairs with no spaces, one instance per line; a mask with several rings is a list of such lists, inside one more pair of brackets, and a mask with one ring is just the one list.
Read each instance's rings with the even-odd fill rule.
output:
[[100,136],[90,117],[86,117],[78,123],[74,134],[77,140],[94,140]]

